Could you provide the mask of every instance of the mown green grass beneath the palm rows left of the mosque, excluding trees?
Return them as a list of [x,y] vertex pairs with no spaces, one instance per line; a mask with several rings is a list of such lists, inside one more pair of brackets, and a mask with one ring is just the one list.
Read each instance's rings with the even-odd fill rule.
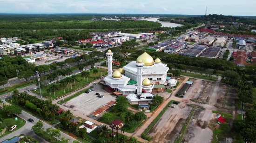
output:
[[[77,77],[77,81],[75,82],[75,84],[73,82],[73,83],[70,83],[68,87],[67,86],[60,87],[60,84],[56,82],[57,86],[59,87],[59,90],[55,92],[55,96],[54,96],[54,92],[51,93],[52,95],[50,93],[47,93],[47,88],[50,85],[48,85],[47,87],[41,88],[42,96],[48,99],[57,99],[58,97],[63,96],[64,94],[71,93],[76,89],[85,86],[87,83],[98,79],[99,77],[101,77],[101,75],[104,76],[107,74],[107,69],[103,69],[103,68],[97,68],[97,69],[98,69],[98,73],[96,75],[93,74],[93,72],[90,70],[90,76],[88,77],[88,82],[87,82],[87,78],[85,78],[84,80],[84,78],[81,77],[81,74],[77,74],[75,75]],[[52,84],[55,84],[55,83],[52,83]],[[38,89],[33,92],[40,95],[40,91]]]

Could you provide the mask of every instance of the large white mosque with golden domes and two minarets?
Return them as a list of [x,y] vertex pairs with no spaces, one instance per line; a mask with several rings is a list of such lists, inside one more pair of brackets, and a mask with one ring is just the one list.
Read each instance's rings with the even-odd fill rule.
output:
[[[154,59],[143,53],[136,61],[128,63],[115,72],[112,70],[111,50],[106,53],[108,62],[108,75],[104,78],[105,84],[122,95],[152,93],[162,91],[166,82],[169,68],[159,58]],[[154,95],[154,94],[152,94]]]

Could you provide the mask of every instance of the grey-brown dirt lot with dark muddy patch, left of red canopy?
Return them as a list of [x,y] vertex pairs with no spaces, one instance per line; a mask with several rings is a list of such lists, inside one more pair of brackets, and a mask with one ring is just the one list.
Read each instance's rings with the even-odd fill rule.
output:
[[210,143],[212,130],[211,120],[215,119],[215,114],[211,110],[197,108],[186,128],[187,134],[183,135],[182,143]]

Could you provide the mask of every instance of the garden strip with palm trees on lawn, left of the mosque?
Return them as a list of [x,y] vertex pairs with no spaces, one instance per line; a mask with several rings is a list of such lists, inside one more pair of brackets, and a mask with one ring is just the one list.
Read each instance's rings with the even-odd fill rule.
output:
[[[56,83],[51,83],[45,87],[41,87],[41,93],[42,96],[47,99],[57,99],[58,97],[67,93],[72,93],[75,90],[88,85],[91,81],[94,81],[106,74],[107,69],[93,68],[90,71],[83,71],[81,74],[72,75]],[[52,78],[50,81],[54,80],[55,78]],[[39,89],[32,92],[40,95]]]

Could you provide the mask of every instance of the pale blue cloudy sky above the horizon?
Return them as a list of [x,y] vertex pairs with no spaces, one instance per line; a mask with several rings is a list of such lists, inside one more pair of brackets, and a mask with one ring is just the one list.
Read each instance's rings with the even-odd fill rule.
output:
[[0,0],[0,13],[124,13],[256,16],[256,0]]

